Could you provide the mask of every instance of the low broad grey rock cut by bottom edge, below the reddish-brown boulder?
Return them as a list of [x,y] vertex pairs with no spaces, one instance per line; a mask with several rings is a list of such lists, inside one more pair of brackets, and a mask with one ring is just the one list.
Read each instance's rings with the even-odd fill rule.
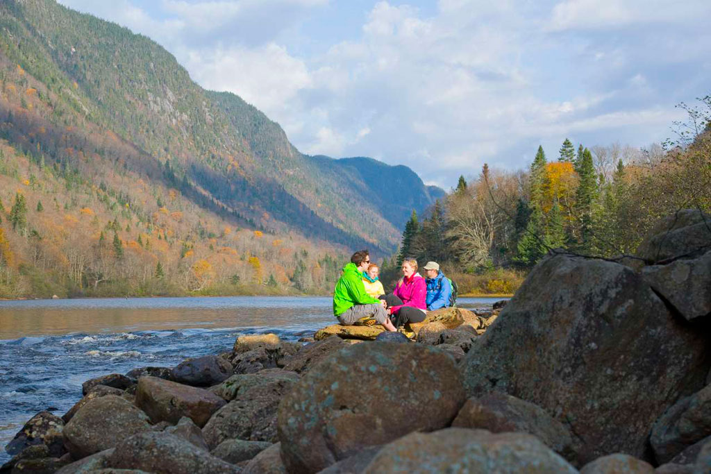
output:
[[170,433],[141,433],[118,443],[110,465],[155,474],[239,474],[240,468],[215,458]]

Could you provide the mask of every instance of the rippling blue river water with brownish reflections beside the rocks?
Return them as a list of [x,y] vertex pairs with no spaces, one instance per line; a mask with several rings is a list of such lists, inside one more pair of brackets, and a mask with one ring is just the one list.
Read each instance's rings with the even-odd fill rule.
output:
[[[459,298],[464,308],[500,298]],[[0,301],[0,447],[34,414],[61,416],[82,382],[224,352],[242,334],[284,340],[334,323],[331,298],[102,298]],[[0,465],[10,456],[0,449]]]

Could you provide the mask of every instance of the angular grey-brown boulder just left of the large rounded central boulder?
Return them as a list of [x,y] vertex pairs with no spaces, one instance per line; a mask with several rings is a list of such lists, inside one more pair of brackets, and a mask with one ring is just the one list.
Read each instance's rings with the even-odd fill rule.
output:
[[227,405],[213,414],[203,428],[210,448],[227,439],[277,441],[277,409],[299,375],[268,369],[256,374],[233,375],[215,391]]

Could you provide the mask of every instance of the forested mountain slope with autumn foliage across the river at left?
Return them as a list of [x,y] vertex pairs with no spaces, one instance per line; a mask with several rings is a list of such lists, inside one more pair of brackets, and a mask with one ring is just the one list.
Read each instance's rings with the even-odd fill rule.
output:
[[[196,85],[154,41],[54,1],[0,2],[0,82],[0,230],[16,273],[11,279],[0,249],[4,284],[38,262],[58,271],[55,281],[77,266],[71,278],[80,288],[118,281],[107,276],[111,262],[102,270],[93,259],[68,264],[62,250],[73,239],[98,246],[115,235],[124,249],[137,244],[144,280],[162,262],[162,271],[193,279],[186,287],[204,288],[194,264],[228,265],[215,257],[225,247],[247,266],[208,272],[210,281],[244,282],[255,274],[250,258],[259,257],[260,281],[271,274],[284,288],[325,288],[324,258],[333,266],[346,249],[389,252],[411,210],[442,195],[404,166],[305,156],[240,97]],[[18,195],[26,201],[21,225],[11,210]],[[39,202],[45,210],[36,210]],[[54,232],[58,220],[63,228]],[[264,236],[255,242],[271,236],[281,250],[235,245],[245,232]],[[158,235],[168,243],[164,254],[144,246]],[[35,255],[29,265],[31,252],[54,257]]]

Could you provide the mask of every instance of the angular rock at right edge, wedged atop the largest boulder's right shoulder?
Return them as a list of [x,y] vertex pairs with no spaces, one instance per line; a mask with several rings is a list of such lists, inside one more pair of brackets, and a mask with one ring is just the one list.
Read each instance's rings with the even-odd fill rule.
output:
[[646,266],[642,275],[687,321],[711,314],[711,252],[697,259]]

